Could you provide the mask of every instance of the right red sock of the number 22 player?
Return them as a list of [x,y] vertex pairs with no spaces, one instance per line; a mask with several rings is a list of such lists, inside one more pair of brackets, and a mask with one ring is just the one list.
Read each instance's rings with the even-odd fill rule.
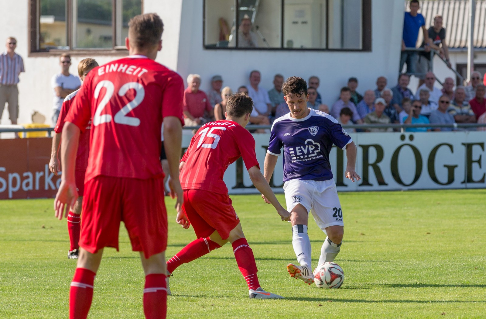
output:
[[145,276],[143,313],[146,319],[165,319],[167,313],[167,288],[165,274]]

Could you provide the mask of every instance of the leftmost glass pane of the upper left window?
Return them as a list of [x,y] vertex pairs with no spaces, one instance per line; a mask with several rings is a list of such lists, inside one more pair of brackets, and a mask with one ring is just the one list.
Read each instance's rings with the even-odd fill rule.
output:
[[66,31],[66,0],[41,0],[39,49],[69,49]]

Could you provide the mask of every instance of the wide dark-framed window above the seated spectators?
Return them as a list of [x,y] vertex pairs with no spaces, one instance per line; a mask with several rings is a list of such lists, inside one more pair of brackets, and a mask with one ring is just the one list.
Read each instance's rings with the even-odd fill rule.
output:
[[371,0],[205,0],[207,49],[371,50]]

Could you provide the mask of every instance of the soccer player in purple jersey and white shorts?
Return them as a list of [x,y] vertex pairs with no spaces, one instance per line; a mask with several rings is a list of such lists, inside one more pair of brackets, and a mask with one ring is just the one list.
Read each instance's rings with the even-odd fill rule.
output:
[[346,149],[345,176],[353,182],[361,177],[355,171],[356,145],[351,137],[332,116],[307,107],[309,94],[305,80],[289,77],[282,91],[290,113],[272,125],[263,175],[269,182],[283,146],[283,189],[287,211],[292,214],[292,245],[300,264],[289,264],[287,270],[291,277],[312,284],[311,242],[307,234],[309,211],[317,226],[327,234],[318,265],[336,258],[344,234],[343,211],[329,163],[332,144]]

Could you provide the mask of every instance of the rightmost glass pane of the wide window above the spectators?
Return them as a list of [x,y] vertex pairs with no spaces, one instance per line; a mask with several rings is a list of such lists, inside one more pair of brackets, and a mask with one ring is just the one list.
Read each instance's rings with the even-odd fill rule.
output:
[[363,1],[329,0],[329,48],[363,48]]

